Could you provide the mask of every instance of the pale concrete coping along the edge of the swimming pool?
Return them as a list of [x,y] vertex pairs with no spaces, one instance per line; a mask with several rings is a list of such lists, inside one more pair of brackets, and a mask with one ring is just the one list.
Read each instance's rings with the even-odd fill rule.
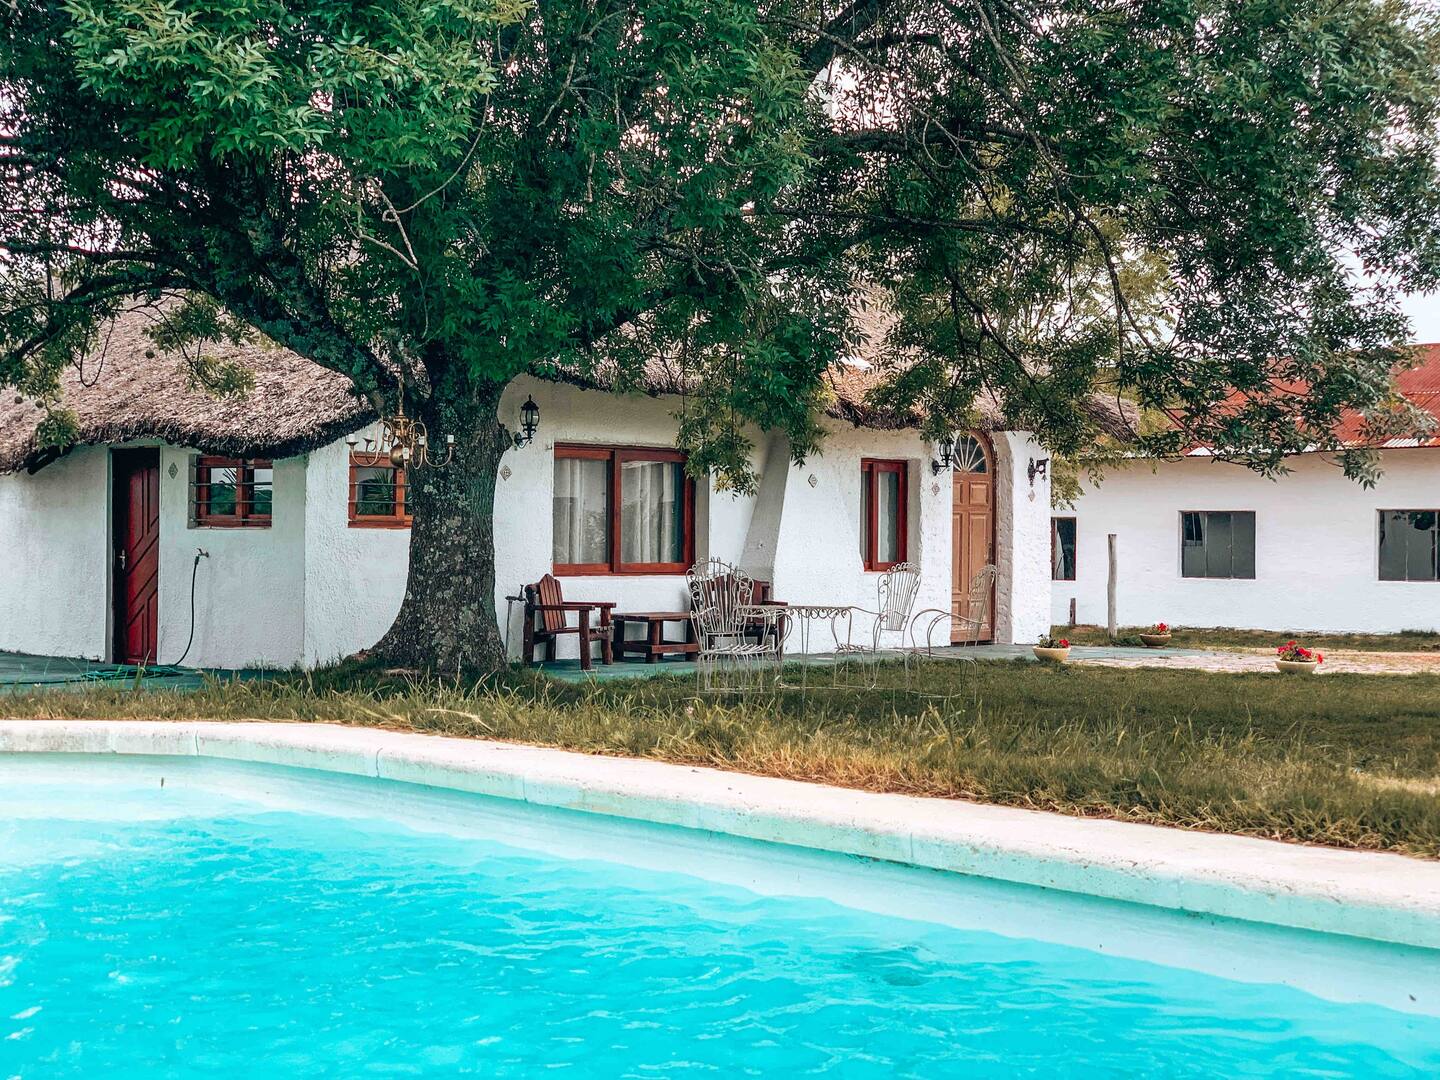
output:
[[0,720],[0,753],[196,756],[370,776],[1440,949],[1440,863],[1385,852],[330,724]]

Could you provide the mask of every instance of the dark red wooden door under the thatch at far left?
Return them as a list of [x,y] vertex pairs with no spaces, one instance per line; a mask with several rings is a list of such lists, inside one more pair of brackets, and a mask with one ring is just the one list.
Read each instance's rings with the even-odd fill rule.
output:
[[154,664],[160,631],[160,451],[112,458],[115,661]]

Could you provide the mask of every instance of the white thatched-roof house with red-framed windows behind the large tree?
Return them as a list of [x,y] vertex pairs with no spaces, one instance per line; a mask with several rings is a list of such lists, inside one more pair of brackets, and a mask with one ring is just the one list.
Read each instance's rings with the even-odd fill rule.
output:
[[[135,312],[104,341],[104,356],[66,377],[79,419],[68,452],[37,448],[33,402],[0,405],[0,649],[288,668],[372,645],[400,603],[409,528],[403,477],[354,462],[346,442],[376,433],[369,406],[340,376],[274,346],[215,350],[255,373],[251,393],[216,399],[187,386],[181,359],[157,350]],[[521,609],[505,596],[544,573],[567,599],[680,609],[688,560],[710,556],[791,603],[868,606],[880,572],[910,560],[919,606],[940,609],[994,557],[994,638],[1045,632],[1050,490],[1031,468],[1045,451],[1025,432],[973,432],[969,471],[936,471],[913,428],[868,413],[863,382],[854,367],[832,379],[822,454],[796,468],[782,439],[757,435],[759,491],[700,482],[688,514],[671,513],[685,488],[680,397],[516,382],[501,416],[514,423],[533,395],[540,428],[507,452],[495,498],[495,602],[511,654]],[[624,492],[628,504],[654,503],[636,513],[678,530],[661,534],[668,554],[635,556],[644,570],[583,552],[577,516],[586,528],[625,527],[595,503],[622,461],[616,482],[644,484]],[[863,527],[870,505],[874,524]],[[628,543],[595,550],[624,560]]]

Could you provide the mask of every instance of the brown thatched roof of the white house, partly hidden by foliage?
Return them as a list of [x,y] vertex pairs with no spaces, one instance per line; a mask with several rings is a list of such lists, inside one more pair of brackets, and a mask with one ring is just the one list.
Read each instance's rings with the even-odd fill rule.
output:
[[[235,396],[215,396],[192,386],[186,360],[158,348],[145,333],[153,312],[130,311],[101,331],[99,347],[84,369],[62,379],[62,405],[78,419],[79,445],[161,439],[207,454],[251,458],[285,458],[343,438],[376,419],[369,402],[354,395],[350,382],[304,357],[262,338],[235,346],[206,344],[207,357],[238,363],[253,374],[253,387]],[[615,389],[618,379],[602,370],[557,372],[553,377],[595,390]],[[884,413],[865,402],[877,382],[874,370],[837,364],[828,373],[834,400],[828,413],[857,426],[901,429],[917,425],[916,416]],[[651,361],[639,390],[660,396],[683,393],[678,364]],[[1002,426],[998,402],[978,402],[981,425]],[[36,426],[40,406],[6,393],[0,397],[0,474],[36,469],[58,456],[40,448]],[[1129,418],[1113,403],[1096,402],[1100,425],[1119,433]]]

